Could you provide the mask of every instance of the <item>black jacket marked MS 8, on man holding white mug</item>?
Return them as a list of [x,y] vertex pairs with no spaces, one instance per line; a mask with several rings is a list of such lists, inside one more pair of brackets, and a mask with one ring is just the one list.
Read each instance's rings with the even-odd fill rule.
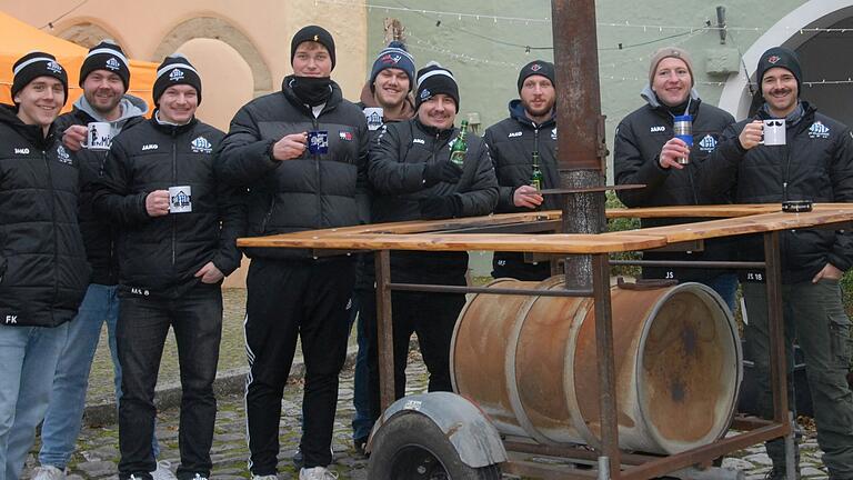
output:
[[[199,286],[209,261],[225,276],[240,267],[237,238],[241,203],[213,170],[223,132],[195,119],[184,126],[154,118],[119,133],[94,192],[94,211],[119,229],[122,294],[177,298]],[[192,211],[149,217],[145,197],[169,187],[191,188]]]

